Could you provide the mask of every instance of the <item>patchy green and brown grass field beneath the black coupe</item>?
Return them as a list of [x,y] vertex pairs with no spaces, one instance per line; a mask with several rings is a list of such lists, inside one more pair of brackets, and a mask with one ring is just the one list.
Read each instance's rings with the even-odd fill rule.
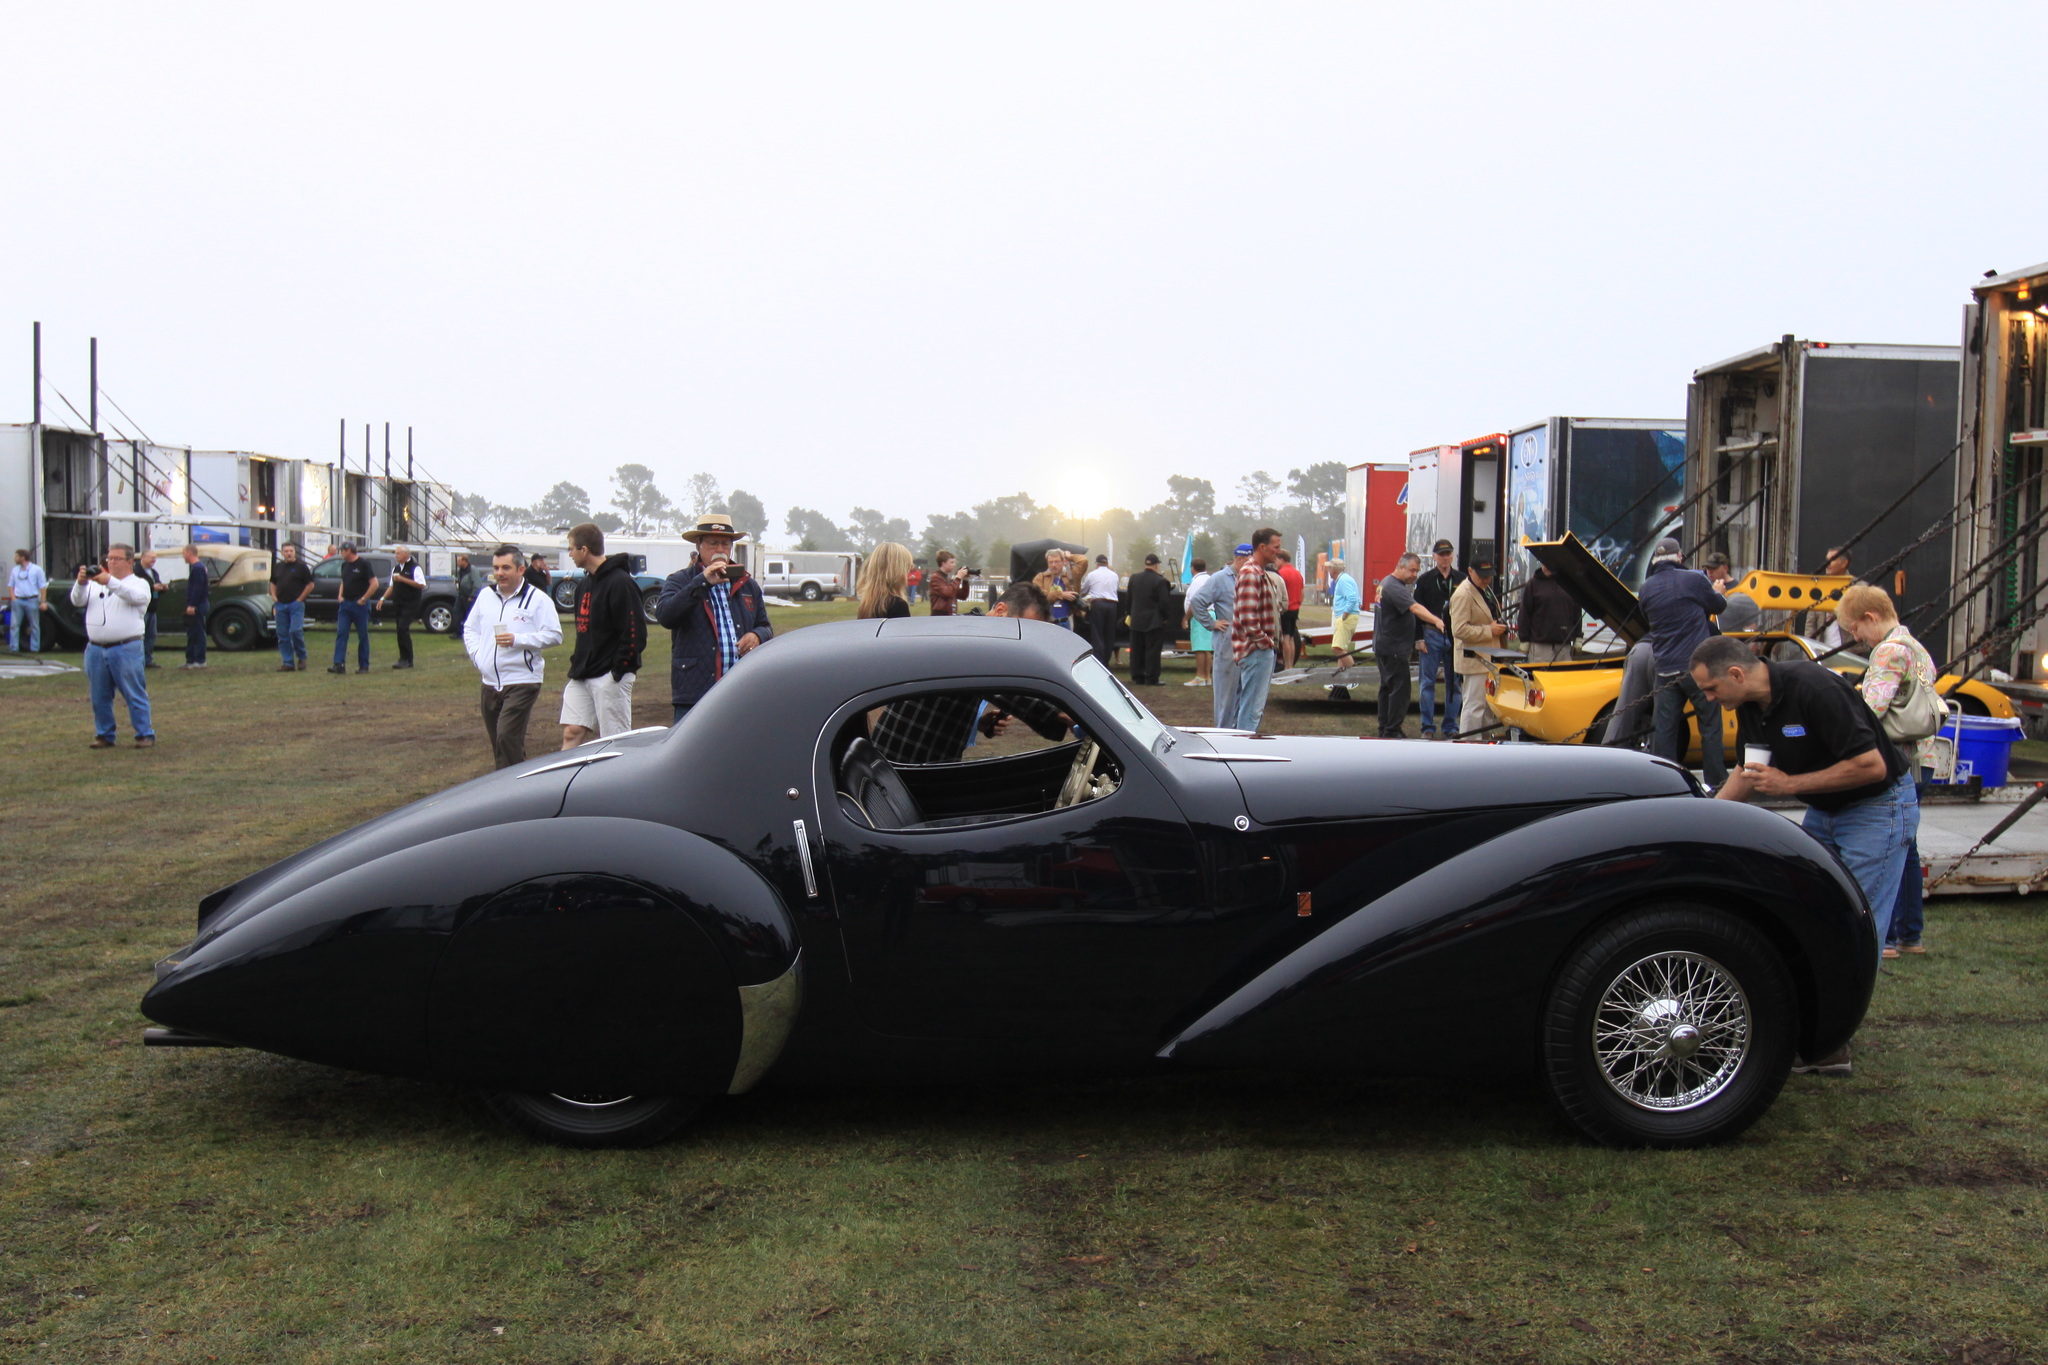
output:
[[[82,675],[0,684],[0,1361],[2048,1361],[2040,896],[1933,902],[1855,1078],[1706,1152],[1579,1146],[1534,1089],[1231,1074],[770,1085],[584,1154],[145,1052],[203,892],[489,765],[455,645],[330,677],[311,639],[152,673],[150,753],[86,749]],[[1206,720],[1167,667],[1147,700]],[[1370,729],[1319,698],[1268,729]]]

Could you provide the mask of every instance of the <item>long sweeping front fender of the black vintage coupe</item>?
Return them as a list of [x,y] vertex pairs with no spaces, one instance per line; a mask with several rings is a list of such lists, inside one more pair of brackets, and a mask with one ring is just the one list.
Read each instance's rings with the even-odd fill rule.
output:
[[[1802,1048],[1847,1038],[1876,945],[1855,882],[1778,814],[1653,798],[1581,806],[1473,845],[1364,905],[1180,1029],[1161,1056],[1280,1056],[1382,1072],[1524,1070],[1554,966],[1602,921],[1657,900],[1722,905],[1786,945]],[[1430,1019],[1417,1033],[1415,1021]]]

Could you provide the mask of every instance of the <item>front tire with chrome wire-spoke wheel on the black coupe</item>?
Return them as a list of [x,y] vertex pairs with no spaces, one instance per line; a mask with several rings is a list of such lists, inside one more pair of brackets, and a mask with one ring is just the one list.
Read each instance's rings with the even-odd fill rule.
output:
[[1761,933],[1704,905],[1634,911],[1579,943],[1550,986],[1550,1101],[1608,1146],[1726,1142],[1778,1099],[1796,1021]]

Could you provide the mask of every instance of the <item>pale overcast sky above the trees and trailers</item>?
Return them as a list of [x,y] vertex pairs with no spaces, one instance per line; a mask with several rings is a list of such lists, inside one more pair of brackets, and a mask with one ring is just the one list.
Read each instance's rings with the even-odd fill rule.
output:
[[1143,508],[2048,260],[2040,0],[326,12],[8,6],[0,420],[41,319],[158,440],[500,501]]

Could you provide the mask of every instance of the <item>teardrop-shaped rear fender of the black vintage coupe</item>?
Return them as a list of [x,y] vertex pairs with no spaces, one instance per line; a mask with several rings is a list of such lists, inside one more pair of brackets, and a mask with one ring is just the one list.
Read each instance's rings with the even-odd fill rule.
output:
[[[563,817],[303,884],[166,958],[143,1013],[356,1070],[555,1087],[571,1076],[551,1058],[584,1056],[598,1060],[573,1072],[582,1085],[725,1089],[741,990],[795,960],[780,896],[733,853],[647,821]],[[434,1021],[459,1021],[455,1042]]]

